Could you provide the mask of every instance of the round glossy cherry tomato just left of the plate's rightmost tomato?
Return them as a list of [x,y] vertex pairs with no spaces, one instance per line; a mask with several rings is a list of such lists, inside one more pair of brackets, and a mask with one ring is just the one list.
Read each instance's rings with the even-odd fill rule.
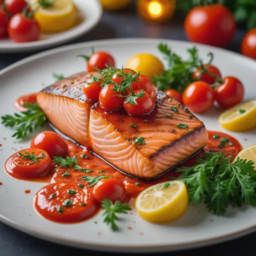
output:
[[212,107],[213,102],[213,89],[203,81],[193,82],[186,87],[183,93],[183,104],[194,113],[207,111]]

